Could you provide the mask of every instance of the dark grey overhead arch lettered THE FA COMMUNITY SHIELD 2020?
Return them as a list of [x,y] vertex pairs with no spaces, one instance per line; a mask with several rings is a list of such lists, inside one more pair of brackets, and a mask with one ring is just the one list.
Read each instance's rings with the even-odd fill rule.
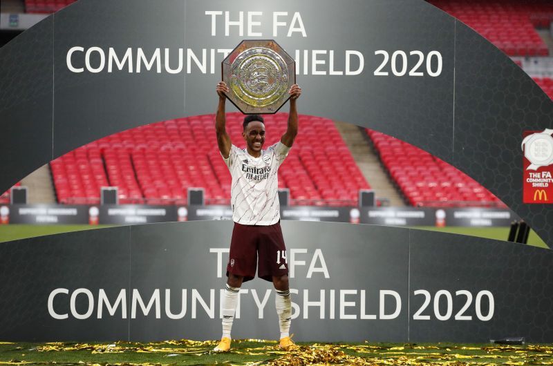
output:
[[[322,12],[313,13],[314,6]],[[553,126],[553,102],[503,52],[424,1],[353,0],[348,6],[332,0],[242,0],[232,6],[182,0],[74,3],[0,49],[0,191],[105,135],[212,113],[213,88],[220,78],[217,57],[222,59],[218,50],[233,48],[249,29],[245,24],[240,35],[238,26],[230,26],[226,36],[224,14],[236,21],[243,12],[247,21],[248,11],[261,13],[255,15],[260,24],[252,26],[254,32],[272,36],[276,27],[272,38],[283,48],[310,57],[299,61],[301,113],[350,121],[429,151],[480,182],[553,244],[553,226],[547,224],[553,222],[551,206],[522,203],[521,151],[523,131]],[[287,26],[274,22],[276,12],[286,13],[276,19]],[[186,65],[176,74],[167,73],[164,65],[161,73],[73,73],[66,59],[75,46],[84,52],[99,47],[106,54],[111,47],[119,57],[127,48],[136,56],[140,48],[148,58],[157,48],[165,55],[167,48],[173,52],[172,68],[179,48],[185,64],[188,49],[197,57],[205,49],[209,61],[205,73],[194,60],[188,63],[190,73]],[[322,66],[312,63],[313,50],[326,60]],[[346,51],[352,50],[364,57],[359,75],[312,75],[314,68],[330,73],[330,51],[335,70],[344,71]],[[376,76],[373,72],[382,63],[377,50],[408,55],[411,50],[423,55],[438,51],[442,71],[435,77]],[[84,67],[84,52],[74,54],[76,68]],[[99,53],[91,55],[97,66]]]

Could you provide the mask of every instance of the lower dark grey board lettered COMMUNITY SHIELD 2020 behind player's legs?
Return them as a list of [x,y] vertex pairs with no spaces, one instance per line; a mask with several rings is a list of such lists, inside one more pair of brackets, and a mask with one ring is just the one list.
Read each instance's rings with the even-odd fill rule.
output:
[[[282,227],[297,340],[553,341],[547,249],[373,225]],[[231,232],[229,221],[174,222],[2,243],[0,338],[217,338]],[[241,287],[233,336],[279,336],[270,282]]]

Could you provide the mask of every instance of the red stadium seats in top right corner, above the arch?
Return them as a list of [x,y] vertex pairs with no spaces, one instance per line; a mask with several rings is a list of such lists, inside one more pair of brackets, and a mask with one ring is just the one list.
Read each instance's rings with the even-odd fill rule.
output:
[[535,27],[549,28],[553,20],[550,0],[431,0],[509,56],[547,56],[547,45]]

